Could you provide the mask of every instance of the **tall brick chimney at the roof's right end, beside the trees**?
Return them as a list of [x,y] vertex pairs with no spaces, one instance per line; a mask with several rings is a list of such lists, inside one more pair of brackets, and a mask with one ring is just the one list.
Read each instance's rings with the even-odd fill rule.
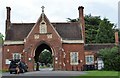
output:
[[81,26],[81,29],[82,29],[82,39],[84,40],[84,43],[85,43],[84,7],[79,6],[78,10],[79,10],[79,23],[80,23],[80,26]]

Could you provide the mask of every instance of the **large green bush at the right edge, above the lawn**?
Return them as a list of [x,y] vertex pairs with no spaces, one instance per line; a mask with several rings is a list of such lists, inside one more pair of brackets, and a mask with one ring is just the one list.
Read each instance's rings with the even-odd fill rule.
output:
[[120,47],[105,48],[99,51],[105,70],[120,71]]

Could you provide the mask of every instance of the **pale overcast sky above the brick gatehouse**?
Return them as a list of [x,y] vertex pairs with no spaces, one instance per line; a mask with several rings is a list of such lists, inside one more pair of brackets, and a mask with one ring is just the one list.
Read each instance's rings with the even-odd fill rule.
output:
[[51,22],[66,22],[66,18],[78,17],[78,6],[84,6],[85,14],[106,17],[118,23],[119,0],[0,0],[0,32],[5,33],[6,6],[11,7],[12,23],[35,23],[45,6],[45,14]]

